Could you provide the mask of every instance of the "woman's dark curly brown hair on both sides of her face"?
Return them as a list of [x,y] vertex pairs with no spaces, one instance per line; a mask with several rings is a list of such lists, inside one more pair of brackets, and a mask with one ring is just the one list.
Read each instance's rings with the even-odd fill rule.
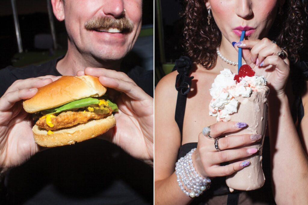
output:
[[[286,50],[291,61],[297,62],[300,50],[306,46],[307,11],[300,0],[287,2],[282,7],[283,15],[277,14],[269,37]],[[216,48],[221,42],[221,32],[213,18],[208,25],[204,0],[184,0],[182,3],[184,50],[193,62],[209,69],[217,60]]]

